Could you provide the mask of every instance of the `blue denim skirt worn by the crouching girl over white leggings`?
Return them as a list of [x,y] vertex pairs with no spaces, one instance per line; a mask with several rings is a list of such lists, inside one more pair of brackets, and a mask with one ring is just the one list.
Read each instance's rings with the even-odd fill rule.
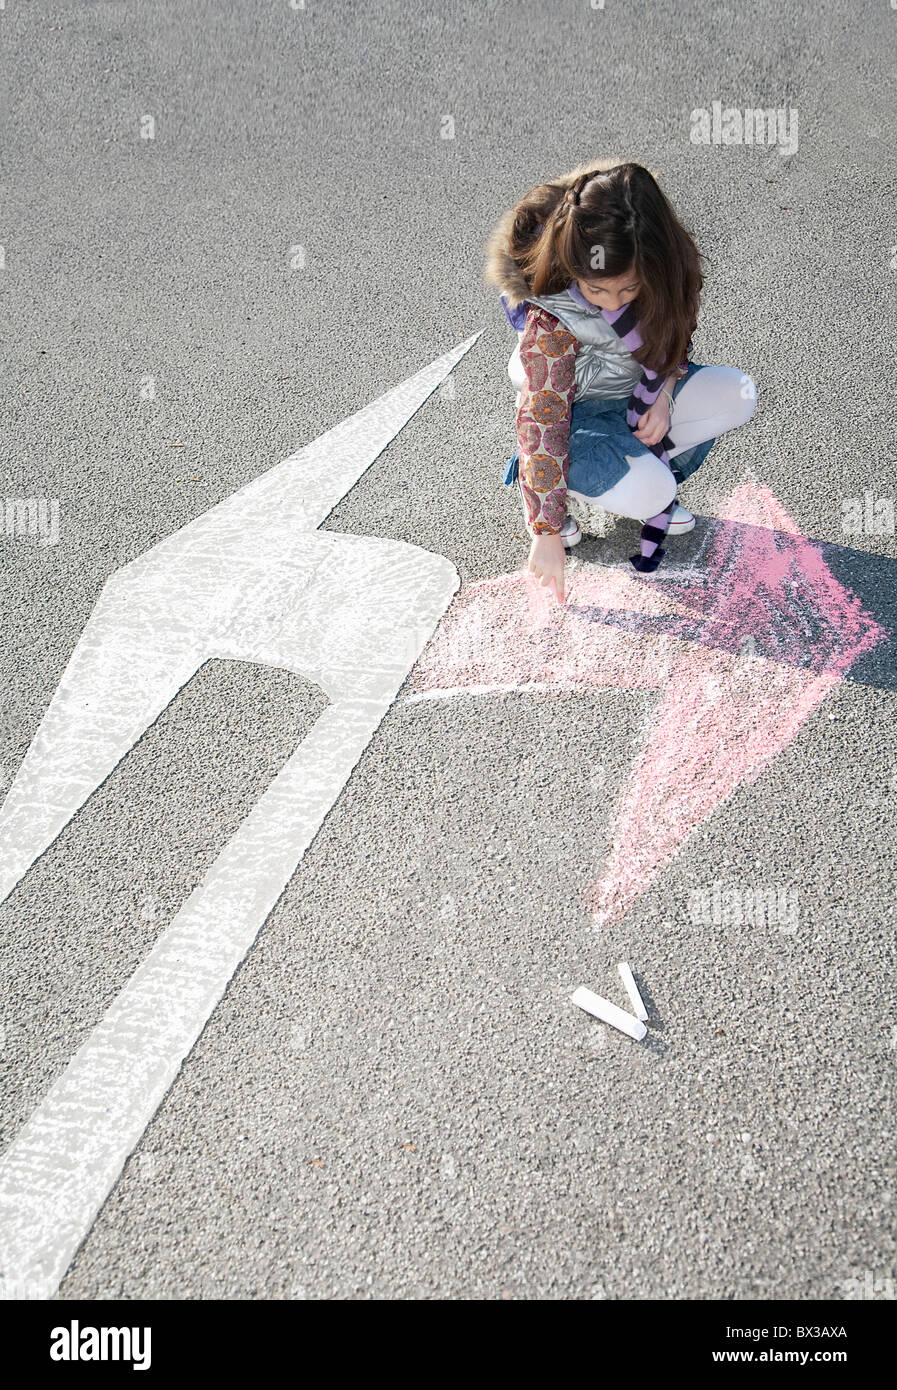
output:
[[[701,367],[702,363],[688,363],[687,375],[681,377],[673,386],[673,400],[695,371],[701,371]],[[606,492],[629,473],[627,455],[647,452],[626,424],[627,403],[629,396],[617,396],[613,400],[585,396],[573,403],[567,474],[570,492],[579,492],[584,498],[599,498],[602,492]],[[676,417],[673,417],[673,424],[674,420]],[[690,478],[695,468],[701,467],[715,443],[716,439],[706,439],[670,459],[676,481],[684,482],[686,478]],[[520,456],[513,453],[505,466],[502,481],[508,485],[517,481],[519,459]]]

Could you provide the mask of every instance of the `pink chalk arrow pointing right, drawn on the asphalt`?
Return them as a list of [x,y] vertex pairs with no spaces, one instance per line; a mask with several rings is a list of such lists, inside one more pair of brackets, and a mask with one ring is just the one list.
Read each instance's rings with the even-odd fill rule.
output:
[[686,582],[674,571],[645,582],[574,567],[566,607],[549,605],[527,571],[473,584],[414,671],[410,699],[662,692],[616,808],[605,872],[585,890],[599,927],[624,916],[889,635],[765,486],[736,489],[706,524],[704,556],[704,571]]

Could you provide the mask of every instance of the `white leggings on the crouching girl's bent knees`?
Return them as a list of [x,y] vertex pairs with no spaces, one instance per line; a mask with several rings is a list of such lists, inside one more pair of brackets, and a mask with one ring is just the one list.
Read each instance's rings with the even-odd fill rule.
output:
[[[702,367],[676,396],[669,436],[674,459],[705,439],[715,439],[745,424],[757,409],[757,388],[737,367]],[[626,455],[630,470],[624,478],[595,500],[606,512],[645,521],[663,512],[676,496],[676,480],[654,453]]]

